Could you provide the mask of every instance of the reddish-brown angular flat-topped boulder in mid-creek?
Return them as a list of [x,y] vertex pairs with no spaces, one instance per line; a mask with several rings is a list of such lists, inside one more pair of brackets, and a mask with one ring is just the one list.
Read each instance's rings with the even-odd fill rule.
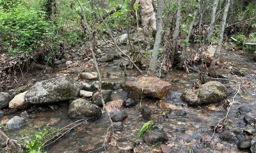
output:
[[132,77],[125,83],[129,98],[140,99],[142,96],[163,99],[168,94],[171,84],[156,77]]

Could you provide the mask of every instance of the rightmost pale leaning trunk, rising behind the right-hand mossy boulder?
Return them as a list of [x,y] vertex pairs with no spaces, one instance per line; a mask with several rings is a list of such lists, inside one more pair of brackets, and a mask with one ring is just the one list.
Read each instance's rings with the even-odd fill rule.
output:
[[229,5],[230,5],[230,0],[227,0],[226,4],[225,4],[224,12],[223,12],[223,17],[222,17],[222,20],[221,20],[221,29],[220,29],[220,36],[219,36],[219,40],[218,40],[218,45],[217,45],[216,50],[214,52],[214,57],[212,58],[210,69],[215,66],[218,57],[220,57],[220,49],[221,49],[221,45],[222,45],[222,41],[223,41],[223,34],[224,34],[224,30],[225,30]]

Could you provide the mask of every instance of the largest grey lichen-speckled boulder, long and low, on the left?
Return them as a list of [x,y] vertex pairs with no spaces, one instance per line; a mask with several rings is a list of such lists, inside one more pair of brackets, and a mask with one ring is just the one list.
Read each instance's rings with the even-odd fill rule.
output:
[[31,104],[58,103],[76,98],[79,95],[80,85],[65,77],[52,78],[36,82],[28,92],[25,99]]

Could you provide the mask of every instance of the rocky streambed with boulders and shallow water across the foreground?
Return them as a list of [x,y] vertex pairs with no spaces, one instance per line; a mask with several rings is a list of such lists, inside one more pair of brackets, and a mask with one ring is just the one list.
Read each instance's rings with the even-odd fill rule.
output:
[[[212,78],[192,89],[198,73],[175,70],[161,79],[141,77],[132,69],[124,72],[119,66],[123,61],[115,55],[99,57],[102,96],[118,146],[132,146],[131,152],[256,152],[255,62],[238,51],[226,50],[223,58],[218,73],[226,78]],[[58,63],[60,73],[15,98],[1,92],[1,127],[8,128],[8,136],[63,128],[88,117],[91,120],[47,146],[47,152],[118,152],[102,147],[109,122],[97,92],[97,73],[90,59],[86,61]],[[218,124],[226,115],[225,123]],[[154,128],[138,138],[148,120]]]

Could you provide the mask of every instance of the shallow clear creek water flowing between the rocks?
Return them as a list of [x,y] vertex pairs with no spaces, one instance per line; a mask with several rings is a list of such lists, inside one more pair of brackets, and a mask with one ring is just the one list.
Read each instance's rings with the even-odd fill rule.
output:
[[[236,65],[244,71],[245,77],[237,77],[236,75],[227,74],[228,77],[242,82],[241,87],[243,90],[237,94],[234,98],[234,105],[230,108],[228,114],[227,126],[225,131],[235,131],[237,133],[243,133],[243,129],[255,129],[254,126],[246,126],[243,121],[243,115],[238,112],[239,107],[246,106],[251,108],[251,111],[247,114],[252,117],[256,117],[256,63],[252,61],[252,57],[248,55],[239,55],[238,52],[225,51],[223,54],[225,62],[236,62]],[[102,73],[106,71],[122,71],[118,67],[119,61],[114,61],[108,66],[101,67]],[[127,70],[128,76],[131,77],[134,70]],[[127,78],[116,78],[109,80],[103,78],[108,82],[120,82],[124,83]],[[180,95],[184,89],[189,89],[194,84],[198,73],[186,73],[184,71],[171,71],[170,75],[166,75],[163,78],[166,82],[172,84],[172,88],[168,94],[168,102],[180,105],[186,111],[185,116],[177,115],[177,111],[166,111],[157,107],[159,100],[144,98],[141,101],[141,107],[149,106],[152,108],[152,116],[156,125],[163,128],[163,131],[168,135],[169,141],[167,143],[171,152],[187,152],[188,149],[193,149],[194,152],[250,152],[249,150],[239,150],[236,147],[236,143],[222,142],[219,138],[220,133],[216,133],[212,140],[207,142],[207,138],[212,137],[212,129],[210,126],[216,126],[220,119],[225,117],[227,111],[223,110],[222,104],[191,107],[182,102]],[[226,81],[227,83],[227,81]],[[227,84],[232,89],[238,89],[238,85],[235,82],[228,82]],[[232,99],[234,94],[228,98]],[[122,89],[114,91],[112,99],[125,99],[126,93]],[[52,126],[54,128],[62,128],[73,122],[67,116],[68,103],[63,104],[60,109],[51,110],[47,108],[45,111],[35,114],[29,114],[29,120],[25,128],[17,129],[16,131],[9,131],[9,133],[28,133],[31,129],[40,126]],[[136,135],[140,131],[141,126],[145,122],[141,113],[140,105],[136,105],[132,108],[124,108],[129,114],[128,118],[123,121],[123,130],[115,133],[116,142],[120,147],[127,147],[133,145],[135,141],[141,142],[139,146],[141,152],[157,152],[160,145],[146,145],[142,139],[136,140]],[[20,113],[20,112],[19,112]],[[169,117],[163,117],[163,113],[169,113]],[[5,115],[2,117],[1,122],[12,118],[14,115]],[[53,124],[51,125],[51,122]],[[79,128],[72,131],[58,142],[54,143],[47,149],[47,152],[116,152],[115,150],[104,150],[102,147],[104,138],[106,136],[106,129],[108,129],[108,119],[106,114],[95,121],[89,121],[86,124],[79,126]],[[254,140],[254,138],[252,138]],[[256,141],[256,138],[255,138]]]

